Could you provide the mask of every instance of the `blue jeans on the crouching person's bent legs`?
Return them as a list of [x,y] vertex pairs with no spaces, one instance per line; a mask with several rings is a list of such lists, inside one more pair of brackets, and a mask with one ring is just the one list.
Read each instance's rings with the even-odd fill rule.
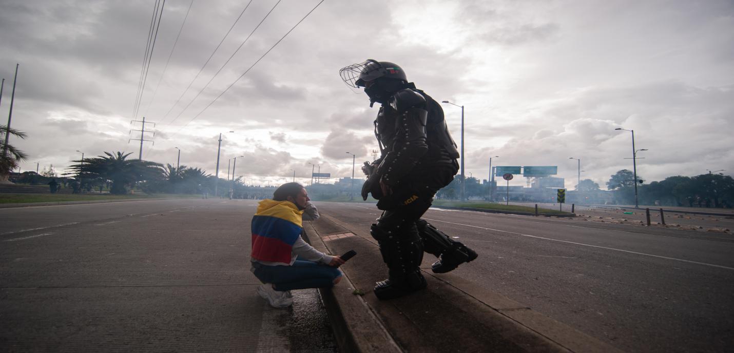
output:
[[276,291],[291,289],[331,288],[334,280],[341,277],[336,267],[296,260],[291,266],[268,266],[253,262],[255,277],[263,283],[272,283]]

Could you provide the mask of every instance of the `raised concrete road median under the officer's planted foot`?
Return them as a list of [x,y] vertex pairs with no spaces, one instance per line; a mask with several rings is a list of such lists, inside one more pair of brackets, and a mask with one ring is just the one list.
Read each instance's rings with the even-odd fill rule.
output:
[[371,289],[374,282],[385,279],[387,268],[366,227],[322,214],[314,222],[305,222],[305,231],[311,244],[322,251],[357,251],[342,266],[346,281],[322,290],[330,316],[337,317],[335,333],[346,351],[619,352],[462,277],[433,274],[432,256],[426,256],[421,265],[426,290],[380,301]]

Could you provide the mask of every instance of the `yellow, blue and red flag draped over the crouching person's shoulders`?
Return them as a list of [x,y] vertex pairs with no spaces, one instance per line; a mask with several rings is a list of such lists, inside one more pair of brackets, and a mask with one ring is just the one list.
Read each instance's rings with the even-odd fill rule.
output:
[[290,264],[302,214],[290,201],[262,200],[252,216],[252,259]]

